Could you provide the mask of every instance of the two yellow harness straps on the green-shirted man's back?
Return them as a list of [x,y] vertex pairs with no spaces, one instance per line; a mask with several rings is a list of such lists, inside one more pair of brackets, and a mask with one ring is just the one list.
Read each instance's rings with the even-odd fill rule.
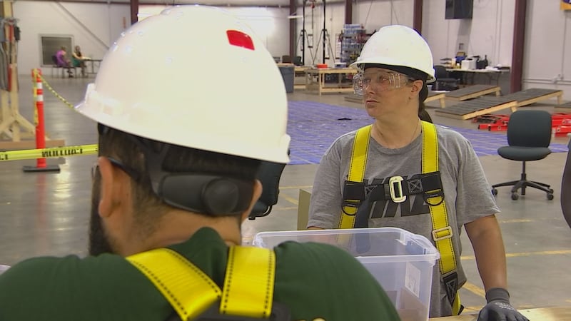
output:
[[156,286],[183,321],[195,320],[218,300],[220,315],[255,319],[271,315],[276,272],[273,250],[232,246],[223,290],[196,265],[168,248],[126,259]]

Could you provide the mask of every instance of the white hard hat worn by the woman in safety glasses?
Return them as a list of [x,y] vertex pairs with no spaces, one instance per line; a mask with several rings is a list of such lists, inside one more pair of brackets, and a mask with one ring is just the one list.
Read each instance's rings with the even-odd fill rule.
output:
[[384,26],[375,32],[351,66],[367,63],[409,67],[426,73],[428,82],[435,80],[430,47],[418,32],[408,26]]

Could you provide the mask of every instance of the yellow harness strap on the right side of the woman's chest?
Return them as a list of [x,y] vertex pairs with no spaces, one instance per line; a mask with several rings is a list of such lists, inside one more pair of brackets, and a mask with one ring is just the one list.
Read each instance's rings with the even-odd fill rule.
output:
[[[423,121],[423,174],[438,172],[438,137],[436,126]],[[425,198],[430,205],[430,218],[433,222],[433,240],[440,253],[440,275],[443,276],[448,300],[453,308],[453,315],[461,312],[460,296],[458,295],[458,273],[456,272],[456,257],[452,245],[452,228],[448,223],[444,194],[439,193],[434,198]]]

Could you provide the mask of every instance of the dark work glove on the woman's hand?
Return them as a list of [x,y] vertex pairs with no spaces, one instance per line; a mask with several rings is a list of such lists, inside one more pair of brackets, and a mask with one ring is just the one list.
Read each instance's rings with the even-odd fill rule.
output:
[[510,293],[502,287],[487,290],[486,301],[477,321],[530,321],[510,305]]

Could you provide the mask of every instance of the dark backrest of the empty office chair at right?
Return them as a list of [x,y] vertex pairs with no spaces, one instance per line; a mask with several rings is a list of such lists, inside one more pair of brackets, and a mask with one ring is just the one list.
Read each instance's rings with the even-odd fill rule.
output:
[[515,111],[507,123],[507,143],[510,146],[549,147],[551,128],[551,114],[547,111]]

